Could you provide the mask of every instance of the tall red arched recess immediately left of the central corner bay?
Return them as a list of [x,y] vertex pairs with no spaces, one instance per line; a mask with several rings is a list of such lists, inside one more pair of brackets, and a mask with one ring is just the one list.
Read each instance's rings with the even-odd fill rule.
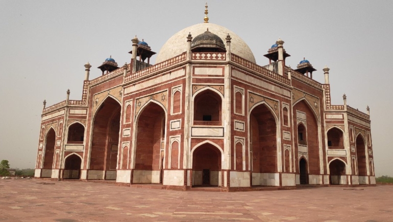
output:
[[137,118],[133,183],[162,183],[165,144],[165,110],[150,102]]

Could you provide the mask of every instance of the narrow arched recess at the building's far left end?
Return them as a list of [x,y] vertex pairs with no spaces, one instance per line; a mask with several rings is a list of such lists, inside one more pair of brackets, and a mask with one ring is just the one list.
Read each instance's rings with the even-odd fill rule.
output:
[[55,154],[55,144],[56,143],[56,132],[51,128],[45,138],[45,153],[44,153],[44,163],[42,166],[41,177],[51,177],[53,160]]

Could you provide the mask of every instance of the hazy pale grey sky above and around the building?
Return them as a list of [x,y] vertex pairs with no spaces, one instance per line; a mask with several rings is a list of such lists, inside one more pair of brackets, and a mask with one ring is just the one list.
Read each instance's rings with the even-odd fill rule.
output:
[[[159,52],[181,29],[203,22],[205,1],[0,1],[0,159],[34,167],[42,101],[81,99],[110,55],[129,62],[137,35]],[[293,68],[306,57],[323,82],[329,66],[332,103],[371,108],[377,175],[393,175],[393,1],[209,1],[209,18],[234,31],[256,61],[278,37]],[[155,57],[152,59],[153,63]]]

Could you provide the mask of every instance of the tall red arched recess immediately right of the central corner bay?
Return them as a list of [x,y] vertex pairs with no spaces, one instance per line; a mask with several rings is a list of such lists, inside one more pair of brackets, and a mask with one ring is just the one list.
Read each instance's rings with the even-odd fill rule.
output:
[[266,184],[266,180],[263,180],[269,177],[268,173],[277,172],[276,119],[264,103],[251,111],[250,142],[252,185],[275,186],[276,182]]

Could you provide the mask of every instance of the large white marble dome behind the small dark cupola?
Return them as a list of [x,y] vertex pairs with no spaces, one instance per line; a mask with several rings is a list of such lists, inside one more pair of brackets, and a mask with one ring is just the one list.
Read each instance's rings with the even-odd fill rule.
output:
[[223,39],[224,43],[227,42],[225,38],[228,33],[231,36],[231,52],[255,63],[255,57],[250,47],[231,30],[212,23],[201,23],[190,27],[187,27],[172,37],[170,37],[165,44],[161,47],[160,52],[157,54],[156,63],[165,61],[166,59],[175,57],[187,51],[187,35],[191,33],[192,37],[196,37],[199,34],[206,32],[209,28],[209,32],[218,35]]

